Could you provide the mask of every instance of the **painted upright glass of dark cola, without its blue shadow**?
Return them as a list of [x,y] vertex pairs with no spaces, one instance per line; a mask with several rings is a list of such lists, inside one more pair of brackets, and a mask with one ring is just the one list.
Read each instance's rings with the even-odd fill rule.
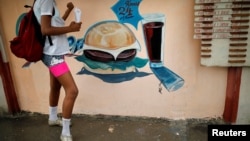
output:
[[163,66],[165,15],[151,13],[142,15],[142,28],[150,67]]

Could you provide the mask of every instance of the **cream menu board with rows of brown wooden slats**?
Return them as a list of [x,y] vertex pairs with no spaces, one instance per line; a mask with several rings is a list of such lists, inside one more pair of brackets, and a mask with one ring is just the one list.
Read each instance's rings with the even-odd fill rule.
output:
[[194,39],[204,66],[250,66],[250,0],[195,0]]

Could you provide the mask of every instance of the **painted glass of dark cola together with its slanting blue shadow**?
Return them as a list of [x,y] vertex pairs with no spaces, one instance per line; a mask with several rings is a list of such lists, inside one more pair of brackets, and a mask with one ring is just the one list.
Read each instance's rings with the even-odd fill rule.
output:
[[165,15],[152,13],[142,17],[150,69],[169,92],[176,91],[184,85],[184,79],[164,66]]

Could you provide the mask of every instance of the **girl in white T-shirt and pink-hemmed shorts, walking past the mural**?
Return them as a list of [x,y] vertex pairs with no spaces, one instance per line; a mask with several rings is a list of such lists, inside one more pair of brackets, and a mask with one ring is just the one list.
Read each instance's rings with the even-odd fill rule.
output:
[[[60,2],[60,1],[59,1]],[[64,56],[69,53],[69,43],[66,33],[80,31],[81,22],[71,22],[65,26],[65,20],[73,10],[72,2],[67,4],[67,9],[60,17],[55,0],[36,0],[34,11],[38,21],[41,24],[41,30],[44,35],[50,35],[53,45],[50,45],[48,39],[44,46],[44,56],[42,62],[50,71],[50,94],[49,94],[49,125],[61,125],[62,141],[72,141],[70,133],[70,120],[78,88],[72,77],[72,74],[64,60]],[[65,97],[62,105],[62,119],[57,117],[57,106],[61,87],[65,90]]]

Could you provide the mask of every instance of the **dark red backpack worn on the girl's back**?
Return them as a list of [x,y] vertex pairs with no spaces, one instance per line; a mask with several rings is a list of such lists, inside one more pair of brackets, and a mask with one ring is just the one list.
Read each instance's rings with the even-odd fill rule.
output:
[[[37,62],[42,59],[46,36],[42,35],[33,7],[27,5],[24,7],[30,10],[21,19],[18,35],[10,41],[10,49],[18,58],[23,58],[28,62]],[[50,45],[53,45],[51,37],[48,36],[48,38]]]

